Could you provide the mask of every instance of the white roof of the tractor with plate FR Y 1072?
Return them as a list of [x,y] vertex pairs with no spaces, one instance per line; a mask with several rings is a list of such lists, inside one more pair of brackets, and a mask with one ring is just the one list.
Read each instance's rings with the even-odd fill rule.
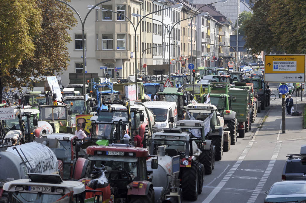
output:
[[[12,180],[7,183],[4,183],[3,190],[14,192],[15,187],[17,185],[25,185],[25,187],[28,186],[46,186],[46,187],[64,187],[65,194],[73,191],[74,194],[80,194],[85,191],[85,185],[80,181],[71,181],[71,180],[63,180],[62,183],[56,184],[56,183],[37,183],[32,182],[30,179],[19,179],[19,180]],[[27,193],[37,193],[37,191],[31,192],[28,190],[24,190],[23,192]],[[48,194],[60,194],[57,193],[56,190],[54,192],[43,192]]]

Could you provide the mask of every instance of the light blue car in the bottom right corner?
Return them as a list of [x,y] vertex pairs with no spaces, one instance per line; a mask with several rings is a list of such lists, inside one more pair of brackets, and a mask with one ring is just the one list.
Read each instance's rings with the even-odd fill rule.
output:
[[264,202],[278,203],[278,202],[299,202],[306,201],[306,181],[281,181],[272,185],[269,191],[266,191],[267,197]]

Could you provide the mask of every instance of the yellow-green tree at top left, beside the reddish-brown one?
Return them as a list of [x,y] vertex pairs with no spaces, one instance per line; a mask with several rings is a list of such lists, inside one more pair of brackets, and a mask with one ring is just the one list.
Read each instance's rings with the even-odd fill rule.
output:
[[[20,66],[34,56],[35,36],[41,33],[41,10],[35,0],[0,1],[0,98],[5,86],[22,83]],[[31,72],[31,71],[30,71]],[[17,85],[18,86],[18,85]]]

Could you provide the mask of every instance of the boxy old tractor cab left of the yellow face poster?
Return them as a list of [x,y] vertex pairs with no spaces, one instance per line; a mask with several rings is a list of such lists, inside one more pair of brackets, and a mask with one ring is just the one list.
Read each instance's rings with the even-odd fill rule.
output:
[[48,122],[54,133],[73,134],[70,105],[40,105],[39,120]]

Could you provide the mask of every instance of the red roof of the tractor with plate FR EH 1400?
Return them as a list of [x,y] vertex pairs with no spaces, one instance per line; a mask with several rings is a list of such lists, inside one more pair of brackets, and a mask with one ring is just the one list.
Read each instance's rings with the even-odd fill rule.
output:
[[114,144],[114,146],[89,146],[86,150],[88,155],[95,155],[95,151],[123,151],[136,153],[136,157],[147,157],[147,148],[134,147],[128,144]]

